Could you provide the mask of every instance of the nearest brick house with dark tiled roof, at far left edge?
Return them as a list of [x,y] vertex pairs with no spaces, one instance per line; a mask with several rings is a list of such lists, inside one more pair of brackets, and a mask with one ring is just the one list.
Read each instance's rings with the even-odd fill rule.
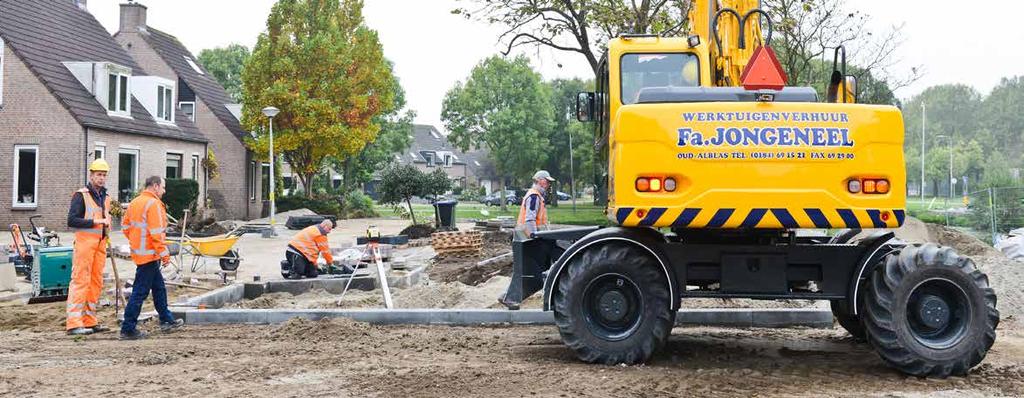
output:
[[139,68],[85,0],[0,1],[0,225],[40,215],[66,229],[72,192],[96,158],[111,164],[115,198],[151,175],[193,178],[204,192],[208,141],[176,112],[176,94],[175,82]]

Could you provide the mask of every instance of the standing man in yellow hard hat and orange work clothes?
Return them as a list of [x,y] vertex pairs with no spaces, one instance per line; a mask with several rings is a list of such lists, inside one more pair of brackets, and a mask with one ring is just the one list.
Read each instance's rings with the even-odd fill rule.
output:
[[111,225],[111,198],[106,195],[106,173],[111,166],[97,159],[89,165],[89,182],[71,196],[68,227],[75,231],[71,285],[68,289],[68,335],[85,336],[106,331],[96,320],[96,307],[103,290],[106,239]]

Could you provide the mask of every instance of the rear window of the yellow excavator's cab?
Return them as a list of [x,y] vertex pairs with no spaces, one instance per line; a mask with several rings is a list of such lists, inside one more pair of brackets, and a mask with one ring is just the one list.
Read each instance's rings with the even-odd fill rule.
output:
[[637,103],[642,92],[699,86],[697,63],[697,56],[692,53],[623,55],[623,104]]

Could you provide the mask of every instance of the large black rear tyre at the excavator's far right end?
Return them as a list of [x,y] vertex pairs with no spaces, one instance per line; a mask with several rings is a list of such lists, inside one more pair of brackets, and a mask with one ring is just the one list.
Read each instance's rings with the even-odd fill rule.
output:
[[995,342],[988,277],[951,248],[914,245],[876,268],[864,301],[867,341],[900,371],[964,375]]

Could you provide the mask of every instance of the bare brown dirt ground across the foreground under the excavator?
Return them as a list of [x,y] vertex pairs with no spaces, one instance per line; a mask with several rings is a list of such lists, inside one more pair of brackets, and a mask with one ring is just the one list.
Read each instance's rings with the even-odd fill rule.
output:
[[1024,395],[1024,336],[967,378],[887,367],[841,330],[679,327],[646,365],[579,362],[554,327],[295,319],[146,341],[0,331],[0,396],[988,397]]

